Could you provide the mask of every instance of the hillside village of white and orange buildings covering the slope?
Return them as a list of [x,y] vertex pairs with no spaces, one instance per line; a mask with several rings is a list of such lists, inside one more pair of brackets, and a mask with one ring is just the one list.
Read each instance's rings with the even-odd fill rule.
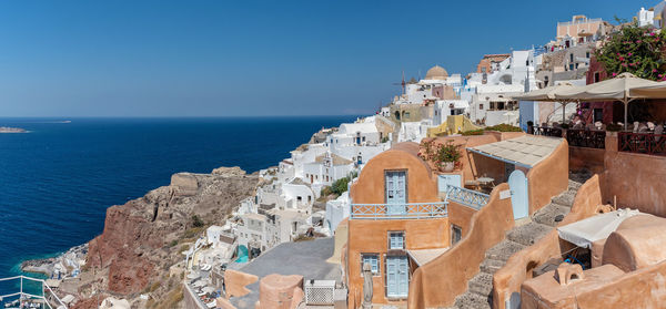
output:
[[[574,16],[474,72],[433,65],[314,133],[224,219],[192,218],[206,224],[169,270],[181,306],[664,308],[666,85],[595,52],[628,28],[662,35],[665,7]],[[132,297],[100,308],[151,298]]]

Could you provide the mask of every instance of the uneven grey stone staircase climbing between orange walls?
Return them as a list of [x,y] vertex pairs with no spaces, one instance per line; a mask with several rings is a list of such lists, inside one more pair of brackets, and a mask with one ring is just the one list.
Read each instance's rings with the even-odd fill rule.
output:
[[506,233],[504,240],[486,251],[478,274],[470,279],[467,291],[455,299],[452,308],[492,308],[493,274],[504,267],[515,253],[532,246],[555,228],[569,213],[581,185],[591,176],[588,172],[569,174],[567,190],[553,197],[548,205],[537,210],[532,217],[516,223],[517,226]]

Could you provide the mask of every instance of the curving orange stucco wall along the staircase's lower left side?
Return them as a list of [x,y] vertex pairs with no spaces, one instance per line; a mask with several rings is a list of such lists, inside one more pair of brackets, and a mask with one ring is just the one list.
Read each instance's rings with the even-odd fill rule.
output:
[[506,183],[493,189],[488,204],[472,217],[463,240],[414,271],[408,308],[448,307],[467,289],[467,280],[478,272],[485,251],[514,227],[511,198],[500,199],[500,192],[506,189]]

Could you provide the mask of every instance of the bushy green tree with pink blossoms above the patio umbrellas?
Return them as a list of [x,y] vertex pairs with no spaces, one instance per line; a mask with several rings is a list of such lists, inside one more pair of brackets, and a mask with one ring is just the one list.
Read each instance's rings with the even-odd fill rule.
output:
[[665,51],[666,31],[634,22],[612,33],[594,55],[608,76],[629,72],[642,79],[666,81]]

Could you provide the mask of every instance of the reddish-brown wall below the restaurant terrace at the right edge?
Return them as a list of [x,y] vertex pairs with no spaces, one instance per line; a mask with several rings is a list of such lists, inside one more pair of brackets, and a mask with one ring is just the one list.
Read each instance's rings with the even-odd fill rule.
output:
[[606,136],[604,200],[618,207],[666,217],[666,157],[617,152],[617,137]]

